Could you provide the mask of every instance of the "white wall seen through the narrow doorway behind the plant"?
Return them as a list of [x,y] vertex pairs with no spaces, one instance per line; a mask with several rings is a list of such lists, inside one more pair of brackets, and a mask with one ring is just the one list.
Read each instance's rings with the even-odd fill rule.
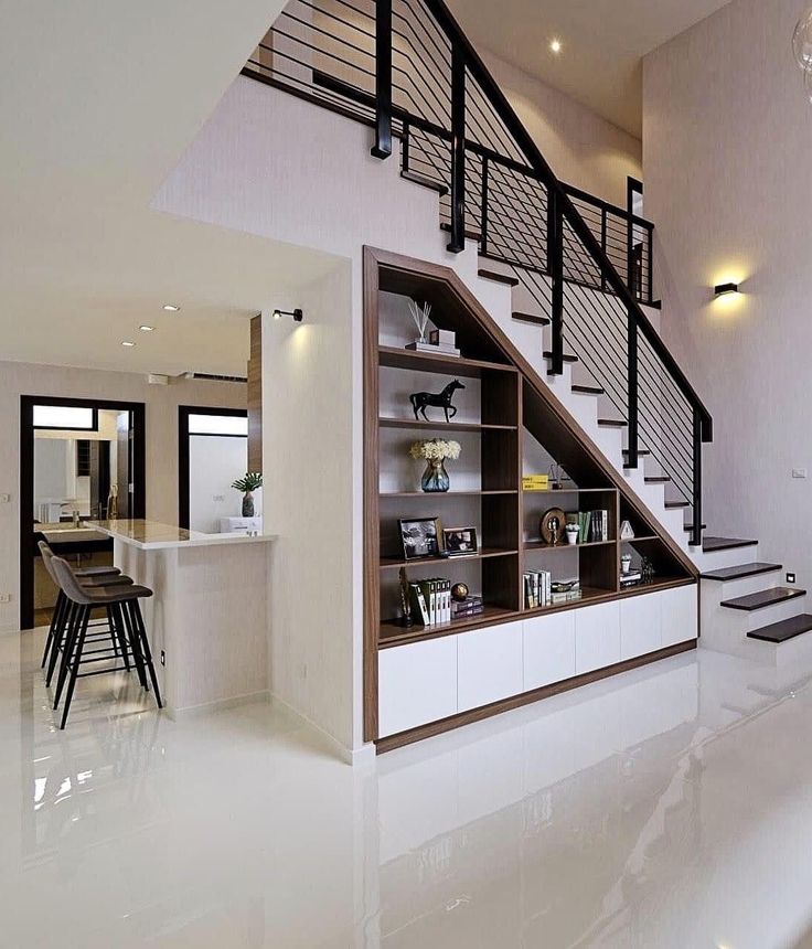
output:
[[189,437],[189,526],[220,532],[221,518],[238,518],[243,495],[232,483],[245,474],[248,439],[234,435]]

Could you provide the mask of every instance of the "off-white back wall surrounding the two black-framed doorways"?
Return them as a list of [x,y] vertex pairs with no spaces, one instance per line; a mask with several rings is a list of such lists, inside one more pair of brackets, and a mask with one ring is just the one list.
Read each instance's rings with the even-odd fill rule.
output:
[[[246,326],[247,332],[247,326]],[[29,363],[0,363],[0,593],[11,603],[0,604],[0,630],[19,626],[20,587],[20,396],[49,395],[74,398],[143,402],[147,406],[147,516],[177,523],[178,519],[178,406],[204,405],[245,408],[246,386],[238,383],[175,382],[148,385],[142,375],[98,372]]]

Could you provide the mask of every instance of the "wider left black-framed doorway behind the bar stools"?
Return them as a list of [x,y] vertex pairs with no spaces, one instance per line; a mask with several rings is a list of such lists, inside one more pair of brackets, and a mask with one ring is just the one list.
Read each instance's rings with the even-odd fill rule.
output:
[[76,565],[109,563],[109,537],[88,521],[146,510],[143,403],[20,398],[20,628],[47,621],[55,588],[38,542]]

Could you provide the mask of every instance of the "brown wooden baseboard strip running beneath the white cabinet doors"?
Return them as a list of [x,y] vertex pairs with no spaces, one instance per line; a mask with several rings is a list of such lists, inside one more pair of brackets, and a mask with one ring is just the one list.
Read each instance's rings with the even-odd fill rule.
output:
[[471,725],[474,722],[481,722],[483,718],[490,718],[492,715],[501,715],[503,712],[521,708],[523,705],[532,705],[534,702],[551,699],[553,695],[559,695],[562,692],[580,689],[583,685],[589,685],[590,682],[610,679],[612,675],[619,675],[621,672],[630,672],[632,669],[639,669],[641,665],[649,665],[652,662],[659,662],[661,659],[669,659],[682,652],[690,652],[692,649],[696,649],[696,644],[697,640],[691,639],[687,642],[669,646],[665,649],[659,649],[656,652],[650,652],[647,655],[639,655],[634,659],[627,659],[624,662],[617,662],[615,665],[608,665],[605,669],[596,669],[595,672],[587,672],[584,675],[576,675],[574,679],[565,679],[563,682],[544,685],[541,689],[535,689],[533,692],[523,692],[521,695],[502,699],[490,705],[482,705],[469,712],[460,712],[458,715],[442,718],[439,722],[430,722],[428,725],[420,725],[418,728],[412,728],[408,732],[389,735],[387,738],[378,738],[375,743],[375,750],[378,755],[384,755],[386,751],[402,748],[404,745],[412,745],[414,742],[421,742],[424,738],[432,738],[436,735],[441,735],[444,732],[451,732],[455,728],[461,728],[463,725]]

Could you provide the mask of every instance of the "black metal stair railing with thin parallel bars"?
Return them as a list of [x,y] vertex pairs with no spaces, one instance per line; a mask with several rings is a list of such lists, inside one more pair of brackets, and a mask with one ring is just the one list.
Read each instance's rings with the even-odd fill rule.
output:
[[400,140],[403,171],[437,184],[448,248],[476,239],[551,318],[548,371],[578,356],[702,535],[710,416],[641,309],[652,225],[563,184],[442,0],[291,0],[244,72]]

